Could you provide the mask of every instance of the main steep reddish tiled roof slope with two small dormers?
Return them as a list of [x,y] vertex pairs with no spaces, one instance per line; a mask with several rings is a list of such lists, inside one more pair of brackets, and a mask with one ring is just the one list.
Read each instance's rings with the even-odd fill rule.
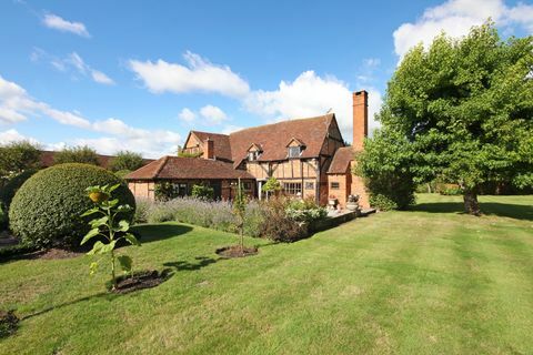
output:
[[286,159],[286,143],[294,136],[305,142],[305,150],[300,158],[318,158],[322,143],[328,135],[333,113],[310,119],[290,120],[266,125],[254,126],[230,134],[231,154],[238,166],[247,158],[248,149],[260,144],[263,153],[259,161],[280,161]]

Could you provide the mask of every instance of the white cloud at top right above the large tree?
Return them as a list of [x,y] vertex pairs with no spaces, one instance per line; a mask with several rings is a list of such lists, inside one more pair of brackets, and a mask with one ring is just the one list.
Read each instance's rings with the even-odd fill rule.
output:
[[393,33],[394,51],[401,58],[414,45],[425,47],[442,31],[459,38],[489,18],[499,26],[522,26],[533,32],[533,6],[506,7],[503,0],[449,0],[429,8],[414,23],[403,23]]

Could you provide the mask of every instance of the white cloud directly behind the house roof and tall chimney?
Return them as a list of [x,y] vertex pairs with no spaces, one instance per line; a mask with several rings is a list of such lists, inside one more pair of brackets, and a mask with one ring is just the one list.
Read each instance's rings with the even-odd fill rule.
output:
[[[381,106],[381,94],[369,90],[369,125],[375,128],[374,113]],[[247,110],[276,121],[335,113],[342,135],[352,140],[352,91],[333,78],[321,78],[314,71],[301,73],[293,82],[281,81],[274,91],[254,91],[245,100]]]

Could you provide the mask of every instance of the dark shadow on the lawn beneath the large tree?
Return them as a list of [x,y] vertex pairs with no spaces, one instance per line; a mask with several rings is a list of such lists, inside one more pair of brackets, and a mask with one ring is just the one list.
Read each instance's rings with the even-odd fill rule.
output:
[[[533,221],[533,206],[531,205],[481,202],[480,207],[485,215],[497,215],[501,217]],[[464,204],[462,202],[420,203],[411,206],[409,211],[462,214],[464,213]]]

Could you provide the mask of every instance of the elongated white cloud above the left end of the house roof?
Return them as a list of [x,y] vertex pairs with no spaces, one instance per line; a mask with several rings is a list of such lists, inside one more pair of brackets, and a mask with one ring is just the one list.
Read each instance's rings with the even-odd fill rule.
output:
[[135,72],[148,89],[161,92],[214,92],[230,98],[242,98],[250,87],[230,67],[212,64],[192,52],[184,55],[187,65],[169,63],[164,60],[130,60],[130,69]]

